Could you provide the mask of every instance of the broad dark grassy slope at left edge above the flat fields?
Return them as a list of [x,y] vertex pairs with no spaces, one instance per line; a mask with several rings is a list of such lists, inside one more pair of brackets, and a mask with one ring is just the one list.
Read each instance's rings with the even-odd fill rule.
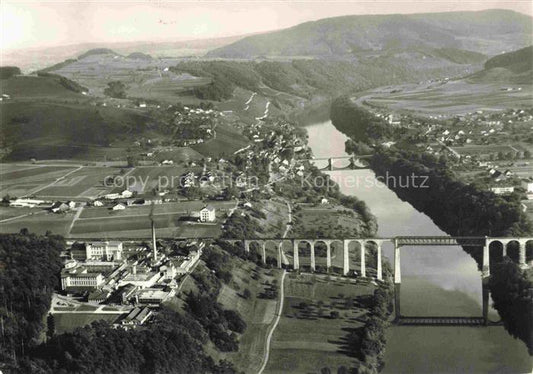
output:
[[138,134],[149,118],[135,111],[95,108],[83,95],[49,77],[21,76],[2,82],[12,100],[1,105],[3,146],[10,160],[91,158],[119,136]]

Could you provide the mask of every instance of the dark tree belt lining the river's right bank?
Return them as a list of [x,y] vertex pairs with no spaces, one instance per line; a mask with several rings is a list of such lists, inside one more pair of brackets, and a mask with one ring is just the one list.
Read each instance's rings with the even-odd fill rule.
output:
[[[347,98],[334,101],[331,107],[333,125],[350,137],[355,145],[369,145],[381,136],[391,136],[390,132],[383,131],[385,124],[379,118],[364,120],[371,117],[371,113],[350,103]],[[352,151],[356,151],[356,147],[352,148],[355,148]],[[377,176],[384,176],[386,173],[397,178],[413,173],[427,175],[428,189],[391,189],[400,199],[427,214],[438,227],[451,235],[523,236],[533,232],[532,223],[520,210],[519,202],[506,200],[459,181],[445,163],[433,156],[377,146],[370,167]],[[481,269],[481,248],[463,249],[476,260]],[[531,270],[521,271],[516,263],[508,259],[497,260],[497,256],[491,256],[489,287],[494,307],[509,334],[522,340],[530,355],[533,355]]]

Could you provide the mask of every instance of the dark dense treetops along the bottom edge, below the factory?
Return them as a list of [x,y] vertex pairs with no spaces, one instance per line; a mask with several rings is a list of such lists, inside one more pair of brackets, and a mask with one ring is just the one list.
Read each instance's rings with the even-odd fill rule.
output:
[[[93,322],[53,337],[31,352],[35,373],[223,373],[203,351],[202,326],[163,308],[149,328],[130,331]],[[28,368],[28,367],[27,367]],[[26,369],[27,369],[26,368]]]

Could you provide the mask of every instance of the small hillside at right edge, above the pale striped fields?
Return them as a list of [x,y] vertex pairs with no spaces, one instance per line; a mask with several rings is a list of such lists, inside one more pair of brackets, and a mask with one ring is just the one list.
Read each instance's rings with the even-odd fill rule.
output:
[[533,82],[533,46],[503,53],[485,62],[485,68],[470,77],[476,83],[531,84]]

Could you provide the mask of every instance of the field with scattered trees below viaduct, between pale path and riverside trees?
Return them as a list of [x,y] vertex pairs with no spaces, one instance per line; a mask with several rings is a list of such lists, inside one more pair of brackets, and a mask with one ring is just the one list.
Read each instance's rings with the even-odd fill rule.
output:
[[335,371],[339,366],[356,366],[357,359],[343,338],[363,326],[364,298],[374,287],[352,282],[313,275],[286,277],[283,314],[265,373],[315,373],[323,367]]

